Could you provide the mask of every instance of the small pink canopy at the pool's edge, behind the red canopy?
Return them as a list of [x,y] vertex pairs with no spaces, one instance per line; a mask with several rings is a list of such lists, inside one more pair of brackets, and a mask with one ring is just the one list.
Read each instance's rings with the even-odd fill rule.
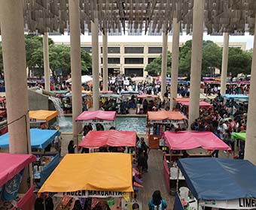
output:
[[114,121],[116,112],[113,111],[84,111],[75,119],[76,121],[102,120]]

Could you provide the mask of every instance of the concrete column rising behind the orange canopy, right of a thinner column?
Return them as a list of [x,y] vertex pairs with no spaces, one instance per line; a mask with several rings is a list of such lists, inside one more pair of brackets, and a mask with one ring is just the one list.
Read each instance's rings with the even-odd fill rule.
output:
[[179,31],[180,24],[177,23],[177,18],[173,18],[173,34],[172,34],[172,83],[171,83],[171,99],[170,111],[175,107],[173,98],[177,98],[178,89],[178,54],[179,54]]

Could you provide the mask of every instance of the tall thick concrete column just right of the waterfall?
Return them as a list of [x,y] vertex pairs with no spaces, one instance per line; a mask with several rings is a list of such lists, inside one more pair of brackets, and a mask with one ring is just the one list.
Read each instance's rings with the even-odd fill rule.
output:
[[81,126],[75,118],[82,112],[81,98],[81,40],[80,40],[80,6],[79,0],[69,0],[69,24],[71,46],[72,74],[72,121],[73,138],[77,139]]

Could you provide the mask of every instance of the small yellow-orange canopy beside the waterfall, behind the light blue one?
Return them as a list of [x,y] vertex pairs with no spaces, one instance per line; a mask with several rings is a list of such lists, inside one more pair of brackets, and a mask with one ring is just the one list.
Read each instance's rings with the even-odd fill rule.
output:
[[52,118],[55,118],[59,113],[57,111],[49,110],[35,110],[29,111],[30,121],[34,122],[44,122],[50,121]]

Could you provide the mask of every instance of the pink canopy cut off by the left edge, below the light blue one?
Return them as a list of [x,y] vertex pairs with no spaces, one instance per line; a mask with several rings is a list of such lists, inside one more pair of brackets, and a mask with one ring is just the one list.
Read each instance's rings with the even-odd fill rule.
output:
[[0,153],[0,187],[35,160],[32,154]]

